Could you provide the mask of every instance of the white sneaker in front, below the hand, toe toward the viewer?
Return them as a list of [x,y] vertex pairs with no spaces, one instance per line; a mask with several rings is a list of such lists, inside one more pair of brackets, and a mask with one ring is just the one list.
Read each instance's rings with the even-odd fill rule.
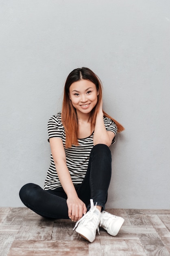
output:
[[[98,230],[99,234],[99,223],[100,223],[100,211],[94,206],[94,202],[90,199],[90,210],[76,223],[74,229],[76,228],[76,232],[83,236],[89,242],[93,242],[96,237],[96,230]],[[73,230],[74,230],[73,229]]]

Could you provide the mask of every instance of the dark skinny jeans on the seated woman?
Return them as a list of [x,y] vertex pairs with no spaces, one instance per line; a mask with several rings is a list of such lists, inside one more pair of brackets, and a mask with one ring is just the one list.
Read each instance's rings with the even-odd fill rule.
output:
[[[105,144],[97,144],[91,150],[87,173],[81,184],[74,185],[78,198],[90,209],[89,200],[105,209],[107,191],[111,179],[111,152]],[[28,183],[20,190],[20,199],[26,207],[44,218],[68,219],[67,195],[62,187],[44,190]]]

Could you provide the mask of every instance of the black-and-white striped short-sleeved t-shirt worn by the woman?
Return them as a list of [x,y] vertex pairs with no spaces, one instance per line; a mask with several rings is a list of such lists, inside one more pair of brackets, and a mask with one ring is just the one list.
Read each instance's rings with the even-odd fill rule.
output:
[[[103,120],[106,130],[112,131],[116,135],[116,124],[107,117],[103,117]],[[94,132],[92,133],[92,135],[85,139],[78,139],[78,146],[72,145],[71,148],[65,148],[65,129],[61,122],[61,112],[59,112],[57,115],[52,116],[48,121],[48,136],[49,139],[52,137],[62,139],[66,155],[66,164],[70,172],[72,182],[73,184],[81,184],[87,171],[90,152],[94,147]],[[114,142],[115,138],[113,138],[112,144]],[[57,175],[54,164],[54,159],[51,154],[50,167],[48,168],[44,189],[56,189],[57,187],[61,187],[61,183],[59,181],[59,177]]]

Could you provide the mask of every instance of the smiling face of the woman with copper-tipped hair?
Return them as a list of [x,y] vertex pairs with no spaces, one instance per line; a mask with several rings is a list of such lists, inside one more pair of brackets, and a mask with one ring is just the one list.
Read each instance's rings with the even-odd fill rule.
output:
[[79,80],[72,83],[69,88],[72,105],[78,114],[89,114],[98,101],[96,85],[89,80]]

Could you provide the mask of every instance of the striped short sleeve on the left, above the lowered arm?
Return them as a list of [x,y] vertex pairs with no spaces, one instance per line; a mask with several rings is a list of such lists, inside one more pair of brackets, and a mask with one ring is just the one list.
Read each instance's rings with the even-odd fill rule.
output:
[[62,139],[63,137],[63,126],[61,124],[61,120],[59,117],[52,116],[48,121],[48,142],[50,138],[59,138]]

